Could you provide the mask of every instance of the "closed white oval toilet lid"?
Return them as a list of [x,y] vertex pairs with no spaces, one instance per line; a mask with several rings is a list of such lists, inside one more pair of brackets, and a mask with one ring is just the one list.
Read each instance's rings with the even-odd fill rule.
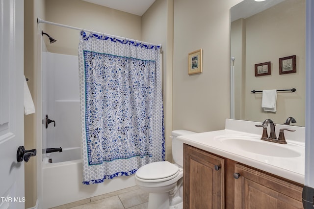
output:
[[[168,161],[160,161],[160,162],[152,162],[140,167],[135,175],[140,179],[145,180],[157,180],[164,179],[175,174],[178,174],[179,167],[168,162]],[[175,175],[174,177],[176,177]],[[173,178],[174,178],[173,177]],[[170,178],[169,178],[170,179]],[[172,178],[171,178],[172,179]]]

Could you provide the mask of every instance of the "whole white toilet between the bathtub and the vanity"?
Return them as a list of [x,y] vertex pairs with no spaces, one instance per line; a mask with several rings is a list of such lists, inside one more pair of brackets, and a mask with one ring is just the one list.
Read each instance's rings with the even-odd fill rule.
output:
[[183,142],[177,136],[195,132],[172,131],[172,157],[168,161],[152,162],[135,173],[135,183],[149,192],[148,209],[183,209]]

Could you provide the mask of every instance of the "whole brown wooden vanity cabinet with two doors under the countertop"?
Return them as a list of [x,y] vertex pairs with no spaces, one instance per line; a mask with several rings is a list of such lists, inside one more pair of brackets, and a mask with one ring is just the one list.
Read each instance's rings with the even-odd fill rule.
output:
[[303,209],[299,183],[186,144],[183,166],[183,209]]

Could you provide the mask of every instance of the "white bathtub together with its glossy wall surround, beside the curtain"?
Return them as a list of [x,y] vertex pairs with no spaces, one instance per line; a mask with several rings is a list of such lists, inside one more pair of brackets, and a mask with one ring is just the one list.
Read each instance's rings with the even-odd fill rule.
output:
[[[37,152],[37,157],[43,155],[44,158],[42,161],[40,157],[42,196],[39,198],[39,208],[52,208],[134,186],[133,176],[93,185],[82,184],[78,56],[43,52],[42,58],[41,119],[48,113],[56,121],[56,126],[50,124],[46,129],[40,121],[43,142],[38,150],[62,147],[63,152]],[[52,163],[48,163],[49,158],[52,158]]]

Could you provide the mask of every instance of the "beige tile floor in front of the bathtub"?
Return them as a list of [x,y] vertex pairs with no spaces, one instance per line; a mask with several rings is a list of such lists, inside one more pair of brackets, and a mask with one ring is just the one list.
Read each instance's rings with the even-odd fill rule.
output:
[[53,209],[147,209],[148,193],[137,186],[87,198]]

